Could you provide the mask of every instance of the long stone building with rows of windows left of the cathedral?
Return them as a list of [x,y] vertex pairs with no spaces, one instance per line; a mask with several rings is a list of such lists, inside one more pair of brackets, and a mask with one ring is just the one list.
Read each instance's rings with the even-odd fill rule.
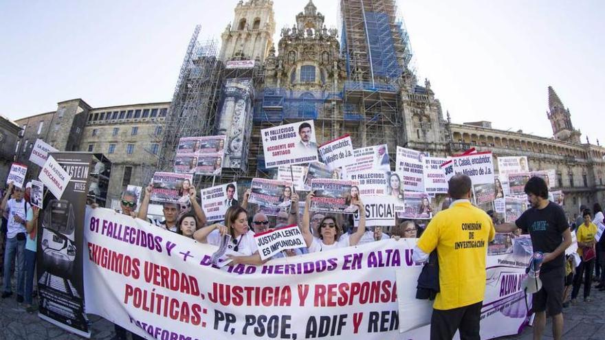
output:
[[84,100],[67,100],[57,110],[25,117],[17,146],[19,161],[28,165],[28,178],[39,174],[29,161],[36,139],[58,150],[101,152],[113,163],[108,201],[120,199],[126,185],[143,185],[153,172],[162,139],[162,123],[170,102],[92,108]]

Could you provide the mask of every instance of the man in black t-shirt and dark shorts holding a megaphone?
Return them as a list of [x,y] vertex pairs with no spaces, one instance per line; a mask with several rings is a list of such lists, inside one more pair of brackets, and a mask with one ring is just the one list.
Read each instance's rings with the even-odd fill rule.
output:
[[531,177],[525,184],[531,207],[516,221],[496,226],[496,231],[509,233],[520,228],[529,232],[533,251],[544,253],[540,268],[542,289],[533,294],[533,339],[540,339],[546,325],[546,312],[553,318],[553,338],[562,339],[563,290],[565,277],[564,252],[571,245],[571,231],[563,209],[548,199],[548,186],[540,177]]

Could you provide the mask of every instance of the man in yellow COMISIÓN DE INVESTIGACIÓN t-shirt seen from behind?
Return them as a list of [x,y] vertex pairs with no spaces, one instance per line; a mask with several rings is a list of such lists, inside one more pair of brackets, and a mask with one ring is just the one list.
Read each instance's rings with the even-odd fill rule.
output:
[[430,339],[480,339],[479,321],[485,293],[487,242],[496,231],[492,218],[470,203],[471,179],[456,174],[448,194],[454,200],[439,212],[418,240],[413,258],[424,262],[437,249],[439,293],[433,304]]

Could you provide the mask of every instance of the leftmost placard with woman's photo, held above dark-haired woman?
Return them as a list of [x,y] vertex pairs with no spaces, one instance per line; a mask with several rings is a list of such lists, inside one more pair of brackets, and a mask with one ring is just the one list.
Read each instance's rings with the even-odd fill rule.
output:
[[191,174],[155,172],[151,180],[151,201],[163,203],[187,203],[191,188]]

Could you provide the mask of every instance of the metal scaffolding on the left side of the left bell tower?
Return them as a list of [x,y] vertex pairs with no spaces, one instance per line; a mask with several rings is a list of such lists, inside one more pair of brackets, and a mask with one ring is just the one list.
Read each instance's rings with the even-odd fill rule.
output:
[[[179,72],[173,100],[163,122],[161,133],[150,136],[159,144],[158,171],[172,171],[175,150],[181,137],[206,136],[214,133],[223,65],[218,58],[217,41],[198,41],[200,25],[195,27]],[[150,152],[153,155],[153,152]],[[144,172],[147,183],[153,171]],[[199,177],[199,176],[198,176]],[[197,178],[196,183],[201,179]]]

